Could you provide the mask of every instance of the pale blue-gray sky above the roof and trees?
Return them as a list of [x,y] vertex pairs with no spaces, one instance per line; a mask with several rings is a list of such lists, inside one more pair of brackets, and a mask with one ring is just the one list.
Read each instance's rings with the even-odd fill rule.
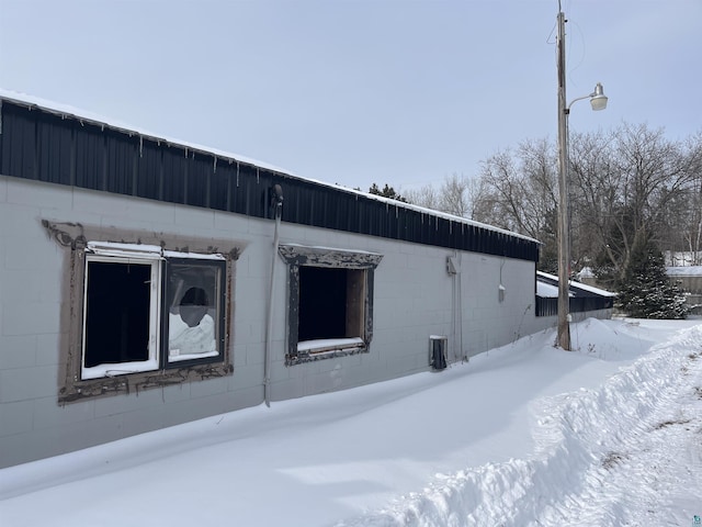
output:
[[[571,132],[702,131],[702,0],[563,0]],[[0,87],[407,190],[555,141],[557,0],[0,0]]]

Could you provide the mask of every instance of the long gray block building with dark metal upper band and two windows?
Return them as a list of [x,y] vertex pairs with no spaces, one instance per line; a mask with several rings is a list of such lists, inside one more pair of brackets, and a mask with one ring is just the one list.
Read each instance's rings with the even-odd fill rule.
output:
[[442,368],[555,321],[535,313],[535,239],[0,102],[0,467]]

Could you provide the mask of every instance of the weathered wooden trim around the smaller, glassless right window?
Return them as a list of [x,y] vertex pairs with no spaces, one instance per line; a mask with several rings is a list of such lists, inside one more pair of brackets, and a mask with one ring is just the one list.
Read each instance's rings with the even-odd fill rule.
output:
[[[315,360],[370,351],[373,339],[374,271],[383,255],[327,247],[281,245],[279,254],[288,266],[287,354],[285,365],[294,366]],[[298,346],[299,321],[299,268],[303,266],[365,271],[365,299],[363,306],[363,338],[306,340]]]

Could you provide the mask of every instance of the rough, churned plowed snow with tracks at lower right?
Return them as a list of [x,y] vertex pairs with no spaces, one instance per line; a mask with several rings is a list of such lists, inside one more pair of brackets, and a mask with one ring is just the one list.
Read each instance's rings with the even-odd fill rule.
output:
[[526,460],[438,476],[340,526],[689,525],[702,514],[702,326],[543,401]]

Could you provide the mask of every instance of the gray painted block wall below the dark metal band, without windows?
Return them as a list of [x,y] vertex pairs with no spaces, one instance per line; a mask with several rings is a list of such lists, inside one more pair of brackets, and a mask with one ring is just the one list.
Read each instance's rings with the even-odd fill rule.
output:
[[[42,220],[230,239],[244,247],[234,277],[233,374],[59,405],[69,270],[65,249]],[[0,176],[0,467],[260,404],[273,225]],[[460,360],[548,326],[534,317],[533,262],[285,223],[280,237],[283,244],[378,253],[383,260],[375,270],[370,352],[286,367],[287,271],[276,257],[274,402],[424,371],[430,335],[446,335],[450,359]],[[446,272],[449,256],[458,274]]]

